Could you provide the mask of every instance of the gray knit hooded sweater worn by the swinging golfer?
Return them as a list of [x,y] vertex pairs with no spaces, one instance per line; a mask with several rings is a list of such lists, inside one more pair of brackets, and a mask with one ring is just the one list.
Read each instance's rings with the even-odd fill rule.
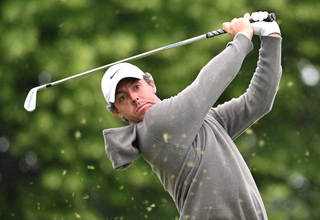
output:
[[232,141],[271,110],[281,76],[281,38],[261,37],[256,72],[239,98],[212,108],[253,46],[237,34],[177,96],[137,124],[103,131],[113,168],[141,154],[170,193],[180,219],[267,219],[257,186]]

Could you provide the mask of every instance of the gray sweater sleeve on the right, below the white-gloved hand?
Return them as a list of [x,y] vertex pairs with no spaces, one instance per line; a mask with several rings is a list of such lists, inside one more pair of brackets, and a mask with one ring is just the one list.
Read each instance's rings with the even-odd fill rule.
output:
[[247,91],[210,110],[232,139],[271,110],[281,73],[281,38],[261,36],[258,66]]

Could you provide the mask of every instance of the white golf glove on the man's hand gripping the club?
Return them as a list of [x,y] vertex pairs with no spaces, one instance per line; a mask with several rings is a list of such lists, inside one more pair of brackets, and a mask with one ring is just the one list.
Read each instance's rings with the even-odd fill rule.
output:
[[[244,18],[248,16],[250,16],[249,13],[246,13],[244,15]],[[271,22],[263,21],[268,17],[268,12],[253,12],[251,14],[251,17],[252,17],[252,20],[257,21],[257,22],[251,23],[254,35],[268,36],[269,34],[272,34],[272,33],[278,33],[281,36],[280,28],[276,21],[271,21]]]

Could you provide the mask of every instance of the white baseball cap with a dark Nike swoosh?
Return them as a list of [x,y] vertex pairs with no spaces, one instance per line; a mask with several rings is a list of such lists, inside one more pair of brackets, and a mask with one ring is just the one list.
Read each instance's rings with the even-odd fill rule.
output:
[[120,80],[126,77],[143,79],[145,74],[130,63],[118,63],[110,67],[102,77],[101,89],[108,104],[115,102],[116,87]]

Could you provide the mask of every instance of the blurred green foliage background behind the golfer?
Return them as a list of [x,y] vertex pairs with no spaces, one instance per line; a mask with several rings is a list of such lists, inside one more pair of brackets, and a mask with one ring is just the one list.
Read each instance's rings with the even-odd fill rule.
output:
[[[178,219],[141,157],[112,169],[102,130],[125,126],[106,109],[98,71],[37,93],[33,87],[274,12],[283,75],[272,111],[236,138],[269,219],[320,219],[320,2],[231,0],[0,1],[0,219]],[[132,61],[159,98],[188,86],[231,41],[205,39]],[[248,87],[260,39],[216,105]]]

